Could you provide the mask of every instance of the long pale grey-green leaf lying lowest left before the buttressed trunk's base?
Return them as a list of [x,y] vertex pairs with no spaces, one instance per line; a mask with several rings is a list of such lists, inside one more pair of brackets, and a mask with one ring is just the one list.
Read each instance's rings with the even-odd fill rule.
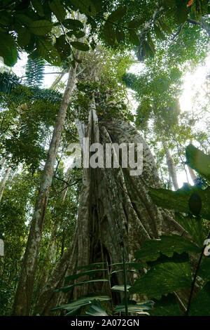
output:
[[69,303],[67,303],[66,305],[59,305],[56,308],[53,308],[52,310],[74,310],[75,308],[80,308],[86,305],[89,305],[91,301],[110,301],[111,298],[109,296],[105,296],[105,295],[97,295],[94,294],[92,296],[85,296],[85,297],[81,297],[76,299],[75,301],[70,301]]

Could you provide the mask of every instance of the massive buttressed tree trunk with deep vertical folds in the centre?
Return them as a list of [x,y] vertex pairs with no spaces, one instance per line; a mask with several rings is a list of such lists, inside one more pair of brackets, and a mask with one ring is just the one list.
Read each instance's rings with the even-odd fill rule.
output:
[[[87,135],[91,143],[142,143],[144,168],[141,176],[130,176],[130,169],[83,169],[83,188],[80,194],[78,218],[73,242],[52,272],[38,299],[36,312],[50,315],[58,303],[70,296],[55,293],[64,284],[64,277],[78,272],[78,266],[122,260],[122,245],[127,260],[145,239],[158,238],[162,233],[179,232],[179,225],[163,209],[153,204],[149,187],[160,187],[153,155],[144,138],[129,123],[121,119],[97,123],[94,109],[89,117]],[[115,284],[120,283],[120,275]],[[99,287],[76,286],[71,298],[78,298]],[[107,288],[106,288],[107,289]]]

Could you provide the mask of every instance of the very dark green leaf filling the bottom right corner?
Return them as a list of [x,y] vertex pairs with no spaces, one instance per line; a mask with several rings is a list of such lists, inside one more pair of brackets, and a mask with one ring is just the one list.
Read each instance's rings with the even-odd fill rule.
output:
[[210,282],[197,293],[190,305],[191,316],[210,316]]

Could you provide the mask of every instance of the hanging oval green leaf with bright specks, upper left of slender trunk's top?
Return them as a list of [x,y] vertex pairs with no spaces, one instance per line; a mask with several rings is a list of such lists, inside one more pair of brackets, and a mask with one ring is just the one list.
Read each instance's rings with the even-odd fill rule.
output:
[[42,58],[52,65],[60,65],[60,55],[50,41],[38,39],[37,52]]

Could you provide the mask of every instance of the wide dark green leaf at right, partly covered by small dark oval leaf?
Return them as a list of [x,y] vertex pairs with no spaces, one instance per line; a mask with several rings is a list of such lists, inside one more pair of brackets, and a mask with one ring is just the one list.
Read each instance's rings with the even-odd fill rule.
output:
[[200,216],[204,219],[210,220],[210,187],[202,190],[199,187],[184,184],[183,187],[176,190],[176,192],[172,190],[151,188],[149,194],[153,199],[153,202],[158,206],[183,213],[191,212],[189,206],[190,197],[193,194],[197,194],[202,200]]

